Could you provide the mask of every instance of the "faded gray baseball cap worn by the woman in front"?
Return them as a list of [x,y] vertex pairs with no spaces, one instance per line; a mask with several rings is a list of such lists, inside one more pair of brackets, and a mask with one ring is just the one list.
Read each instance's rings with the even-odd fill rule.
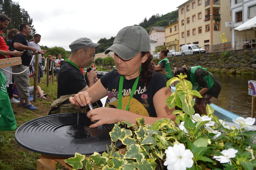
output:
[[113,45],[106,49],[105,54],[114,51],[121,59],[129,60],[139,52],[149,51],[149,35],[138,25],[122,28],[116,35]]

